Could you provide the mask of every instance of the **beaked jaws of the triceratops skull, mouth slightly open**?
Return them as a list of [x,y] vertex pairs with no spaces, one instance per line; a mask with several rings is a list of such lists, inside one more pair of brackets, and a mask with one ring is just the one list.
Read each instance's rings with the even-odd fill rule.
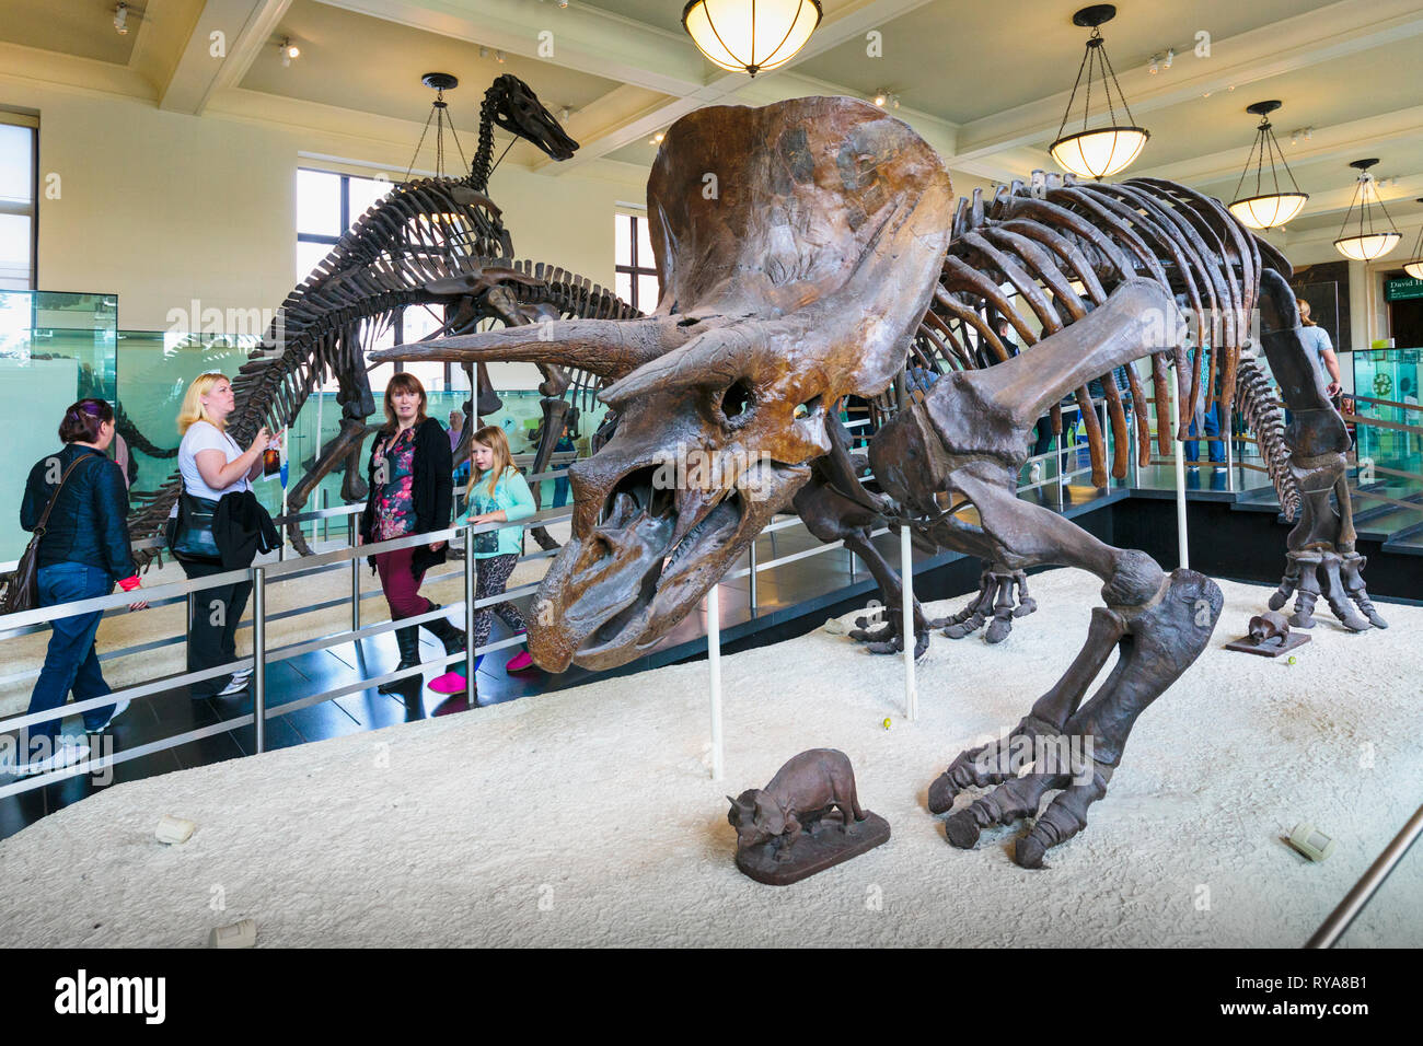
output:
[[535,660],[555,672],[569,662],[602,670],[645,653],[808,478],[807,465],[761,461],[736,488],[702,500],[692,527],[679,527],[672,498],[619,490],[605,522],[575,535],[539,588],[542,611],[529,626]]

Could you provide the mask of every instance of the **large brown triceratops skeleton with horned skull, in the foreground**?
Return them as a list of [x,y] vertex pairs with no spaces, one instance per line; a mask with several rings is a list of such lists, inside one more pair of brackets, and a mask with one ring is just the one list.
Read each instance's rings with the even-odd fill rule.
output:
[[[1012,753],[1025,737],[1087,750],[1081,766],[1033,766],[1019,777],[1020,757],[983,749],[961,754],[931,788],[932,808],[946,811],[962,787],[998,786],[951,817],[956,845],[972,845],[982,825],[1035,814],[1062,788],[1017,845],[1016,860],[1036,867],[1080,831],[1136,717],[1204,649],[1221,593],[1200,574],[1168,576],[1150,556],[1019,500],[1027,430],[1066,393],[1143,356],[1153,359],[1163,417],[1171,361],[1180,398],[1191,403],[1178,296],[1195,344],[1215,346],[1227,389],[1257,293],[1276,373],[1299,353],[1298,317],[1282,259],[1183,186],[1052,181],[1042,198],[1015,186],[992,212],[975,198],[956,222],[951,199],[932,149],[868,104],[703,108],[669,130],[647,186],[663,278],[652,316],[556,323],[548,340],[505,330],[376,356],[539,360],[613,381],[601,398],[619,413],[616,434],[572,470],[573,534],[535,603],[529,648],[551,670],[571,660],[612,667],[647,649],[787,505],[817,537],[865,558],[891,605],[899,579],[869,544],[885,519],[1006,571],[1066,564],[1100,576],[1106,606],[1093,612],[1081,653],[1007,739]],[[1009,283],[1035,323],[999,290]],[[985,302],[1032,347],[1009,359],[980,316]],[[965,324],[998,363],[972,364]],[[882,491],[874,492],[858,478],[837,408],[850,394],[881,397],[915,343],[921,363],[943,376],[924,397],[901,384],[898,411],[869,445]],[[1109,408],[1124,435],[1110,393]],[[1313,407],[1301,398],[1295,408]],[[1100,433],[1093,444],[1101,471]],[[1123,468],[1124,445],[1118,438]],[[719,463],[721,481],[666,482],[690,474],[692,457]],[[916,620],[926,645],[928,623]],[[1114,649],[1116,667],[1084,702]]]

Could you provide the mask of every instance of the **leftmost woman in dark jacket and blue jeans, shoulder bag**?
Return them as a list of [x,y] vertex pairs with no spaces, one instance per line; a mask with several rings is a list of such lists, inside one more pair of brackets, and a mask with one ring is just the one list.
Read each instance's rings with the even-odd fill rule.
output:
[[[112,440],[114,408],[104,400],[80,400],[60,421],[64,450],[30,470],[20,502],[20,527],[34,531],[54,500],[36,558],[40,606],[107,596],[115,582],[125,592],[139,586],[128,537],[128,487],[120,467],[105,457]],[[68,478],[61,487],[65,472]],[[134,602],[128,609],[145,606]],[[50,622],[50,648],[27,714],[58,709],[71,690],[77,702],[112,693],[94,649],[102,616],[102,611],[90,611]],[[107,730],[125,709],[127,699],[90,709],[84,713],[84,729],[88,733]],[[26,760],[20,773],[46,773],[81,761],[90,746],[74,737],[60,739],[60,720],[51,719],[28,729],[20,751]]]

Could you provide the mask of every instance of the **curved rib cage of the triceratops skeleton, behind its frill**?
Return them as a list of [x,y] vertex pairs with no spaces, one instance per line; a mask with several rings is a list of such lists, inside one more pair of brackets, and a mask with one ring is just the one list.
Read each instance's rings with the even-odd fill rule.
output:
[[[1198,346],[1212,346],[1207,389],[1221,373],[1222,431],[1229,431],[1238,387],[1239,352],[1249,337],[1249,317],[1259,290],[1261,268],[1288,276],[1289,263],[1268,243],[1241,225],[1220,201],[1184,185],[1155,178],[1120,184],[1077,182],[1072,176],[1035,174],[1033,185],[1015,181],[1000,185],[985,204],[975,189],[962,198],[953,218],[953,239],[933,302],[915,334],[909,366],[935,373],[970,370],[1007,359],[995,332],[996,317],[1006,319],[1022,346],[1069,326],[1107,300],[1111,290],[1133,278],[1161,283],[1188,317],[1187,352],[1175,346],[1171,357],[1155,353],[1151,384],[1157,417],[1170,417],[1167,366],[1174,360],[1178,381],[1177,438],[1187,438],[1191,407],[1201,391]],[[1010,287],[1005,290],[1003,287]],[[1084,305],[1086,299],[1089,305]],[[1136,370],[1127,369],[1131,397],[1146,401]],[[1100,376],[1113,427],[1113,474],[1127,472],[1127,420],[1110,376]],[[1252,390],[1248,420],[1269,416],[1261,391]],[[1094,485],[1106,485],[1106,441],[1087,387],[1076,390],[1091,450]],[[888,397],[875,407],[892,413]],[[1150,460],[1150,433],[1144,411],[1134,411],[1141,463]],[[1060,431],[1060,411],[1053,407],[1053,428]],[[1158,447],[1170,451],[1170,431],[1158,426]],[[1284,440],[1265,438],[1261,447],[1281,504],[1288,500],[1288,448]],[[1295,495],[1298,501],[1298,494]]]

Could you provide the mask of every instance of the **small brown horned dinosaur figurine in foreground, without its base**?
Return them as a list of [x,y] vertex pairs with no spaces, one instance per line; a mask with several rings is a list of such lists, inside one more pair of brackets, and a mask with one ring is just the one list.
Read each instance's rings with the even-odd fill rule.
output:
[[865,820],[855,797],[855,771],[837,749],[811,749],[793,756],[764,788],[747,788],[736,798],[726,820],[736,828],[737,850],[770,841],[777,861],[790,861],[801,831],[840,810],[842,833]]

